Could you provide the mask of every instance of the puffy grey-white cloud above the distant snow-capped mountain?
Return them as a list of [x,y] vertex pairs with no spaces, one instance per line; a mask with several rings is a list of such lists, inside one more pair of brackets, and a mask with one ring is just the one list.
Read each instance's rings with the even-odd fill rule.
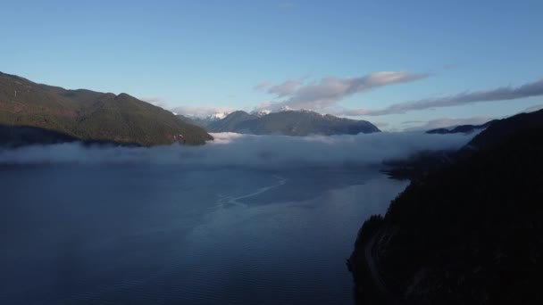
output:
[[[322,111],[336,105],[349,95],[355,95],[377,87],[427,78],[428,74],[414,74],[406,71],[384,71],[365,75],[359,78],[322,78],[319,82],[302,84],[298,80],[288,80],[270,88],[268,92],[285,100],[268,104],[266,109],[276,110],[288,106],[293,109],[311,109]],[[258,105],[262,110],[263,105]]]

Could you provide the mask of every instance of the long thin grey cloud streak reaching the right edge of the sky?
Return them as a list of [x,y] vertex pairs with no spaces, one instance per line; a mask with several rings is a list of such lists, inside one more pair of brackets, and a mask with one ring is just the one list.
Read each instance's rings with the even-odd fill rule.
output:
[[492,90],[472,91],[446,97],[426,98],[418,101],[396,103],[382,110],[346,110],[342,111],[341,114],[347,116],[401,114],[407,111],[420,111],[430,108],[451,107],[469,103],[509,101],[540,95],[543,95],[543,79],[524,84],[520,87],[498,87]]

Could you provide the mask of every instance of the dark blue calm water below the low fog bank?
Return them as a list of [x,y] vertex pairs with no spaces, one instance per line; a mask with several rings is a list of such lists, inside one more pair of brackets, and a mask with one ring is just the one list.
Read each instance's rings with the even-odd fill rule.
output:
[[377,169],[50,165],[0,170],[2,304],[352,304]]

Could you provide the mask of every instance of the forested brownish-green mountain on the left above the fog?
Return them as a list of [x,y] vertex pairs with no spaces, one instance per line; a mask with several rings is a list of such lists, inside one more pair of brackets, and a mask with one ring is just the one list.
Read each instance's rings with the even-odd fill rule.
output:
[[[30,130],[36,135],[40,128],[48,136],[120,144],[204,144],[213,139],[203,128],[127,94],[66,90],[1,72],[0,125],[17,129],[4,136],[24,136]],[[20,139],[0,139],[4,144],[13,141]]]

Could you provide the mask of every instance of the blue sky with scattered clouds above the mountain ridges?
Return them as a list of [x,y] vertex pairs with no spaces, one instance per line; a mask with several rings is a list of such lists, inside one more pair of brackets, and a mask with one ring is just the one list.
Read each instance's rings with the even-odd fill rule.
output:
[[9,1],[0,71],[185,114],[310,109],[384,130],[543,107],[543,2]]

